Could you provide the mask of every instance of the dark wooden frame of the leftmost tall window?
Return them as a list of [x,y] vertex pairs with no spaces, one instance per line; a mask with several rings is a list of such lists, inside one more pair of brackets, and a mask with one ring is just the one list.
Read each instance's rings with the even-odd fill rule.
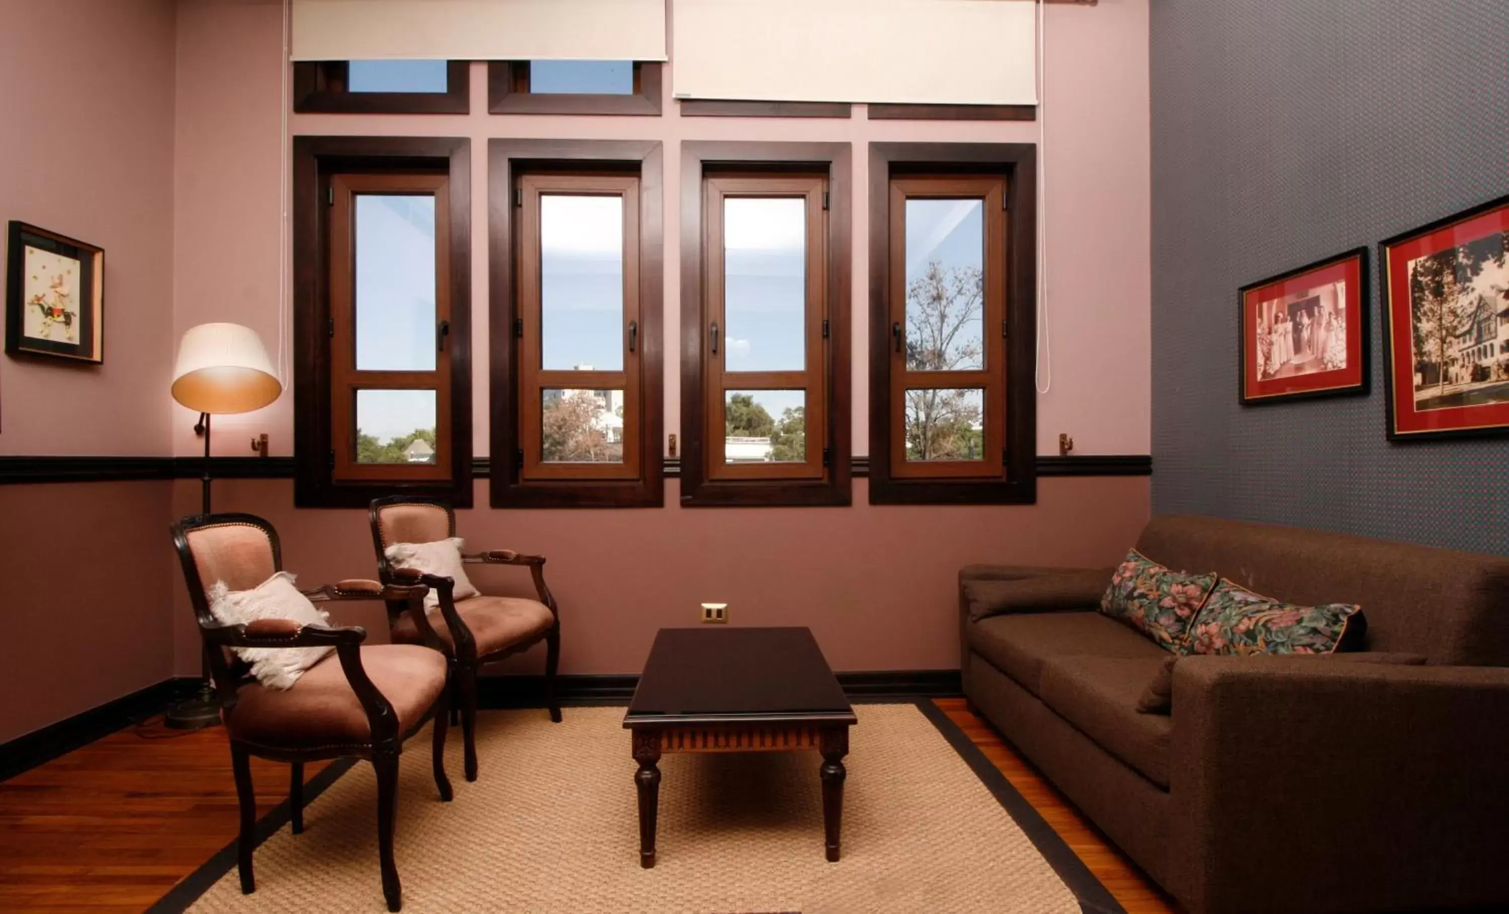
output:
[[[448,288],[445,335],[448,392],[438,392],[436,419],[450,407],[450,434],[441,442],[436,428],[433,468],[386,466],[341,478],[350,462],[340,457],[335,419],[343,404],[333,400],[335,347],[349,341],[344,317],[335,312],[329,265],[335,262],[330,225],[337,207],[337,175],[444,175],[447,187],[448,256],[436,278]],[[439,208],[436,217],[441,217]],[[439,237],[436,232],[436,243]],[[382,495],[401,492],[442,498],[456,507],[472,504],[471,416],[471,142],[465,137],[326,137],[293,140],[293,270],[294,270],[294,505],[352,508]],[[447,308],[436,302],[438,309]],[[343,320],[338,320],[343,318]],[[335,335],[332,335],[332,329]],[[409,373],[361,373],[400,376]],[[382,377],[376,379],[382,380]],[[388,379],[401,380],[401,379]],[[383,385],[392,386],[392,385]],[[349,409],[349,404],[347,404]],[[448,452],[448,460],[442,454]],[[400,471],[400,472],[389,472]],[[430,472],[423,472],[430,471]],[[435,478],[444,472],[445,478]],[[429,477],[429,478],[426,478]]]

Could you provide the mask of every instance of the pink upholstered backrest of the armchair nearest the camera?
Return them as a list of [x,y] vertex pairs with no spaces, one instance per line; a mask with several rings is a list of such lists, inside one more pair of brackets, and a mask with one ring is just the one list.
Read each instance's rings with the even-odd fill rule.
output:
[[[205,627],[217,626],[208,591],[223,581],[229,590],[250,590],[282,570],[282,549],[273,525],[255,514],[195,514],[172,526],[174,547],[189,587],[189,605]],[[210,670],[222,688],[244,677],[246,664],[229,650],[211,650]]]

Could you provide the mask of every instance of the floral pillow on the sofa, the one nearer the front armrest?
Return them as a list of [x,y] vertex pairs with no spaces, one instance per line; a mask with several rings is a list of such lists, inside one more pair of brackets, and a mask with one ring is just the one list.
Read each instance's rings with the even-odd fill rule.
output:
[[1295,606],[1222,578],[1191,626],[1185,653],[1334,653],[1360,646],[1366,632],[1357,603]]

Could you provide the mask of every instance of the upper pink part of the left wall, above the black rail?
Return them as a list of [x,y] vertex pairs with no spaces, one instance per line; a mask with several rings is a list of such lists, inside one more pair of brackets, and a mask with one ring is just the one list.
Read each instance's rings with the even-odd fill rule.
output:
[[104,365],[0,356],[0,454],[166,454],[174,3],[0,3],[0,220],[104,247]]

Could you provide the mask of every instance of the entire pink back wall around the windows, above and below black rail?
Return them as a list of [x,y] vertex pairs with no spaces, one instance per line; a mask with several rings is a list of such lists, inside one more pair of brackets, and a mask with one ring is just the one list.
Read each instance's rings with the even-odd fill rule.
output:
[[[1038,397],[1038,451],[1068,431],[1082,454],[1145,454],[1150,427],[1148,68],[1147,0],[1047,8],[1044,94],[1052,388]],[[284,97],[278,0],[195,0],[180,6],[175,202],[175,330],[205,320],[255,327],[278,348],[279,175]],[[675,56],[675,48],[672,50]],[[665,351],[678,351],[679,145],[693,139],[828,140],[854,145],[854,351],[866,351],[866,143],[875,140],[1038,142],[1038,124],[851,119],[681,118],[665,80],[662,118],[495,116],[486,68],[471,72],[472,113],[448,116],[296,115],[294,134],[432,134],[472,140],[474,427],[487,452],[486,338],[489,137],[658,139],[665,143]],[[276,357],[276,356],[275,356]],[[1044,374],[1044,382],[1049,376]],[[275,454],[293,448],[291,394],[217,424],[216,452],[243,454],[267,431]],[[856,452],[868,451],[868,368],[854,363]],[[665,431],[678,431],[678,367],[665,373]],[[174,449],[201,443],[183,415]],[[226,481],[222,510],[272,519],[285,560],[306,581],[370,576],[374,563],[359,511],[293,510],[291,484]],[[871,507],[863,480],[854,507],[681,510],[668,481],[662,510],[493,511],[460,526],[474,544],[539,551],[566,614],[563,670],[638,668],[656,627],[688,624],[702,600],[726,600],[736,624],[810,624],[836,668],[933,668],[957,664],[960,566],[972,561],[1109,564],[1148,514],[1145,478],[1040,483],[1031,507]],[[174,508],[196,510],[192,483]],[[486,483],[477,504],[486,505]],[[181,582],[177,664],[192,673],[196,646]],[[356,620],[379,629],[376,608]],[[521,661],[537,670],[537,659]]]

